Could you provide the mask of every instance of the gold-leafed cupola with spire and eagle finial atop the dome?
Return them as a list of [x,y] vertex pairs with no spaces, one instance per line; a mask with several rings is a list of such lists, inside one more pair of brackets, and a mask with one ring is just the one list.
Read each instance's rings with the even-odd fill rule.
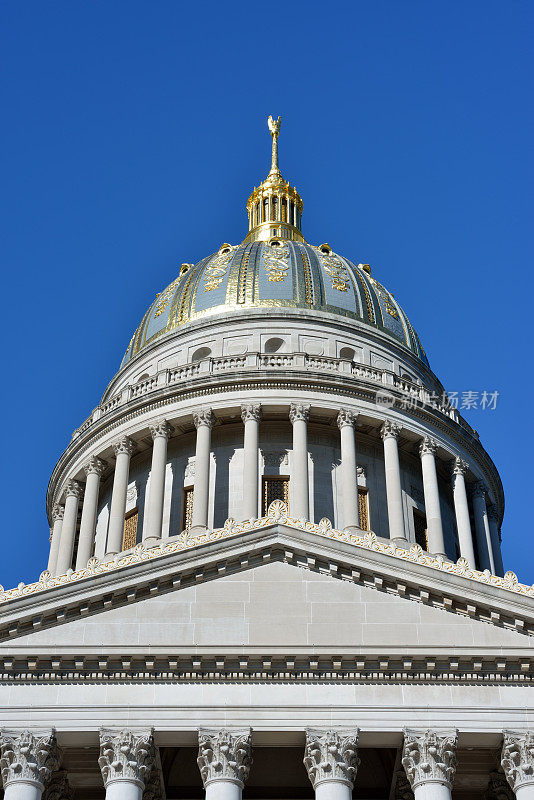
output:
[[304,242],[300,226],[302,198],[288,181],[284,180],[278,166],[278,135],[282,118],[269,117],[272,158],[271,169],[263,183],[254,189],[247,200],[248,235],[245,242],[267,242],[273,238]]

